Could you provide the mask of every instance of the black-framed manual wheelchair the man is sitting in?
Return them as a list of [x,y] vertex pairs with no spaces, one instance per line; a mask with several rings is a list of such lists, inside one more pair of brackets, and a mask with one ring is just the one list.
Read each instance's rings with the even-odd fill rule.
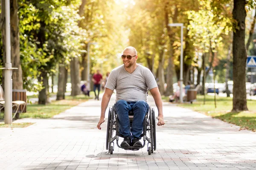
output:
[[[129,119],[130,119],[130,124],[132,124],[132,121],[133,121],[132,111],[129,112]],[[148,136],[146,136],[147,132],[148,132]],[[116,134],[114,135],[114,133]],[[142,147],[134,147],[134,146],[121,147],[118,144],[119,137],[123,138],[124,136],[119,134],[119,120],[114,110],[114,106],[112,106],[112,108],[109,108],[107,136],[106,136],[106,149],[110,154],[113,154],[114,140],[116,140],[116,145],[118,147],[125,150],[139,150],[145,147],[146,141],[148,142],[148,146],[147,146],[148,155],[151,155],[151,153],[153,153],[153,151],[156,150],[156,125],[155,125],[154,108],[149,107],[148,113],[145,114],[145,117],[143,120],[143,133],[140,136],[143,138]]]

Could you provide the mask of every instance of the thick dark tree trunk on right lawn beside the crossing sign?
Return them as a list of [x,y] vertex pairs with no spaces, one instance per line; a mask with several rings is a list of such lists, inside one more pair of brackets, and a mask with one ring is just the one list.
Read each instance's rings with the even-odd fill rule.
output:
[[239,29],[233,32],[233,109],[232,111],[247,111],[245,72],[246,49],[245,37],[245,4],[246,0],[234,0],[233,18],[238,22]]

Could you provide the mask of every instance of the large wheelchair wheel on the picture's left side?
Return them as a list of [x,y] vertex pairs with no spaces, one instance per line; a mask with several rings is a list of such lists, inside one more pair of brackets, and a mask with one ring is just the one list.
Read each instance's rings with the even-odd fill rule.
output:
[[[107,125],[107,136],[106,136],[106,149],[109,151],[111,151],[110,142],[113,136],[113,123],[114,123],[114,111],[112,107],[112,108],[109,108],[109,111],[108,111],[108,125]],[[113,153],[113,148],[112,148],[112,153]]]

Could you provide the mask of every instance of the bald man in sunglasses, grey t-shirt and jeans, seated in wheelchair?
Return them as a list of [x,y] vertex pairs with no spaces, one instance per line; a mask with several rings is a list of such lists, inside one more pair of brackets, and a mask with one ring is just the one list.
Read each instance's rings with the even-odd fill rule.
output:
[[[162,99],[151,71],[137,64],[137,50],[134,47],[127,47],[122,54],[123,65],[114,68],[105,85],[105,93],[102,97],[101,116],[98,122],[100,125],[105,122],[105,112],[108,107],[111,95],[116,89],[116,104],[114,110],[119,119],[119,133],[124,137],[121,147],[142,147],[140,135],[143,131],[143,120],[148,112],[148,96],[150,91],[158,109],[157,125],[164,125]],[[134,119],[132,125],[129,121],[129,111],[133,111]]]

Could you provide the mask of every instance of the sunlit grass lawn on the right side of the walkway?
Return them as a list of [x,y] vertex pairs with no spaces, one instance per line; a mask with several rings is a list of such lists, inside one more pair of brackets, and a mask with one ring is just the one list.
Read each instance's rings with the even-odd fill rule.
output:
[[232,98],[216,96],[216,106],[214,105],[214,96],[206,95],[204,105],[204,96],[198,95],[197,101],[193,104],[183,103],[179,106],[189,108],[193,111],[204,113],[213,118],[221,119],[225,122],[238,125],[241,129],[256,131],[256,101],[247,100],[247,108],[249,111],[231,112],[233,108]]

